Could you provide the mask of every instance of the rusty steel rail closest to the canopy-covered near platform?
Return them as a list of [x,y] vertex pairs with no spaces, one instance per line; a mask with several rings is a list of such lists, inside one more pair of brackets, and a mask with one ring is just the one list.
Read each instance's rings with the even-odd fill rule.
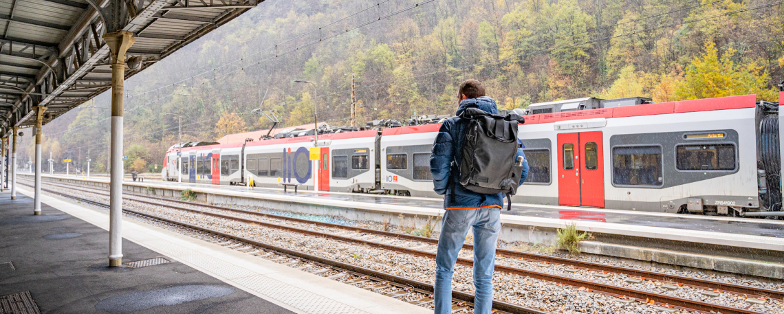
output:
[[[26,186],[29,186],[29,185],[26,184]],[[103,203],[100,203],[100,202],[97,202],[97,201],[94,201],[94,200],[87,200],[87,199],[82,198],[82,197],[75,197],[75,196],[68,195],[68,194],[65,194],[65,193],[56,192],[56,191],[53,191],[51,189],[42,189],[42,190],[45,191],[45,192],[48,192],[48,193],[53,193],[53,194],[56,194],[56,195],[60,195],[61,197],[67,197],[67,198],[71,198],[73,200],[78,200],[78,201],[81,201],[81,202],[84,202],[84,203],[87,203],[87,204],[93,204],[93,205],[99,206],[101,208],[109,208],[108,204],[103,204]],[[177,226],[183,226],[185,228],[199,230],[199,231],[202,231],[202,232],[205,232],[205,233],[212,233],[212,234],[215,234],[216,236],[223,236],[223,237],[226,237],[226,238],[229,238],[229,239],[232,239],[232,240],[237,240],[237,241],[245,243],[245,244],[251,244],[251,245],[256,246],[256,247],[263,247],[263,248],[265,248],[267,250],[270,250],[270,251],[278,251],[278,252],[280,252],[282,254],[288,254],[288,255],[291,255],[291,256],[296,256],[297,258],[303,258],[303,259],[307,259],[307,260],[312,261],[312,262],[318,262],[318,263],[321,263],[321,264],[324,264],[324,265],[330,265],[332,267],[336,267],[336,268],[339,268],[339,269],[346,269],[346,270],[348,270],[350,272],[357,272],[357,273],[360,273],[360,274],[365,275],[365,276],[373,276],[373,277],[379,278],[381,280],[387,280],[387,281],[394,282],[394,283],[400,283],[400,284],[403,284],[403,285],[408,286],[408,287],[413,287],[413,288],[418,289],[420,291],[427,291],[427,292],[430,292],[430,293],[434,292],[434,286],[432,284],[430,284],[430,283],[423,283],[423,282],[418,281],[418,280],[412,280],[412,279],[408,279],[408,278],[401,277],[401,276],[395,276],[395,275],[389,274],[387,272],[379,272],[379,271],[374,270],[374,269],[367,269],[367,268],[364,268],[364,267],[361,267],[361,266],[351,265],[351,264],[344,263],[344,262],[339,262],[339,261],[336,261],[336,260],[333,260],[333,259],[330,259],[330,258],[322,258],[320,256],[307,254],[307,253],[304,253],[304,252],[301,252],[301,251],[295,251],[295,250],[287,249],[287,248],[284,248],[284,247],[277,247],[277,246],[274,246],[274,245],[271,245],[271,244],[266,244],[266,243],[263,243],[263,242],[259,242],[259,241],[248,239],[248,238],[244,238],[244,237],[241,237],[241,236],[235,236],[235,235],[232,235],[232,234],[229,234],[229,233],[223,233],[223,232],[220,232],[220,231],[217,231],[217,230],[212,230],[212,229],[208,229],[208,228],[204,228],[204,227],[200,227],[200,226],[194,226],[194,225],[191,225],[191,224],[187,224],[185,222],[178,222],[176,220],[172,220],[172,219],[168,219],[168,218],[162,218],[162,217],[158,217],[158,216],[155,216],[155,215],[145,214],[145,213],[142,213],[142,212],[139,212],[139,211],[133,211],[133,210],[130,210],[130,209],[125,209],[125,208],[123,208],[122,211],[125,211],[125,212],[127,212],[129,214],[132,214],[132,215],[138,215],[138,216],[142,216],[142,217],[145,217],[145,218],[151,218],[151,219],[159,220],[159,221],[170,223],[170,224],[177,225]],[[466,301],[466,302],[474,303],[474,294],[466,294],[465,292],[461,292],[461,291],[453,290],[452,291],[452,298],[460,300],[460,301]],[[493,306],[493,309],[497,309],[497,310],[503,311],[503,312],[510,312],[510,313],[514,313],[514,314],[517,314],[517,313],[519,313],[519,314],[547,314],[547,312],[542,312],[542,311],[535,310],[535,309],[528,309],[528,308],[525,308],[525,307],[520,306],[520,305],[514,305],[514,304],[511,304],[511,303],[506,303],[506,302],[498,301],[498,300],[493,300],[493,305],[492,306]]]

